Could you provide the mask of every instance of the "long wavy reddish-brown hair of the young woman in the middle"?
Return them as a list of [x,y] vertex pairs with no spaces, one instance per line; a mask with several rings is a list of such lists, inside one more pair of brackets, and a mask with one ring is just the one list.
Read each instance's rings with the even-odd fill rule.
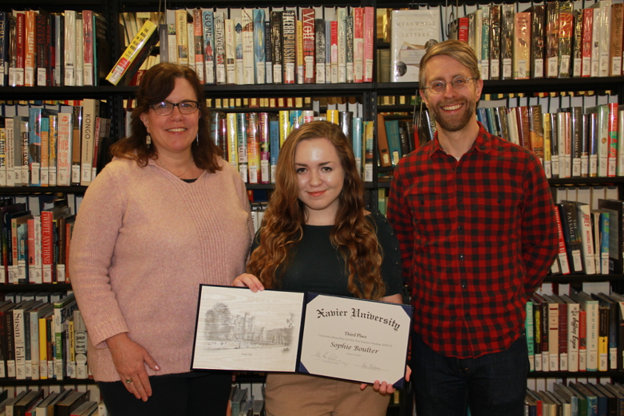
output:
[[[381,279],[382,253],[374,223],[364,216],[364,187],[351,144],[338,125],[313,121],[288,135],[279,151],[275,191],[264,214],[259,246],[252,253],[248,272],[266,288],[279,287],[280,272],[288,264],[288,253],[301,241],[306,223],[305,205],[299,199],[295,150],[302,140],[328,139],[336,148],[345,171],[338,211],[331,229],[331,244],[347,263],[348,289],[356,297],[379,300],[385,295]],[[280,268],[280,266],[282,266]]]

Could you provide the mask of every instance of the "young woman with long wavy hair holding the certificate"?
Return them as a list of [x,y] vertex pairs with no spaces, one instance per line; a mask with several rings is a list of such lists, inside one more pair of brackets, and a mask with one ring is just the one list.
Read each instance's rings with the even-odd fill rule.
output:
[[[275,191],[246,274],[234,286],[401,303],[399,245],[381,214],[364,209],[351,144],[338,125],[306,123],[279,153]],[[268,374],[267,415],[385,415],[391,384]]]

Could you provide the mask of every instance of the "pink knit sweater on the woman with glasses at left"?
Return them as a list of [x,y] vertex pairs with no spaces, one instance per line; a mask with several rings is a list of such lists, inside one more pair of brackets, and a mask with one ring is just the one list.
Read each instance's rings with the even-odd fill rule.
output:
[[115,159],[87,189],[69,268],[97,381],[119,380],[105,340],[122,332],[161,367],[149,375],[190,370],[199,285],[231,284],[254,235],[241,177],[221,165],[189,184]]

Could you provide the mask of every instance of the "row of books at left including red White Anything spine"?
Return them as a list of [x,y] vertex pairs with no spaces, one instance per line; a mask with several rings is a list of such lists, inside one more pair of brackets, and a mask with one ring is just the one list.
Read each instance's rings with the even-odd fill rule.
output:
[[[69,250],[76,215],[65,200],[54,200],[40,213],[23,202],[0,207],[0,282],[69,283]],[[10,205],[9,205],[10,204]]]

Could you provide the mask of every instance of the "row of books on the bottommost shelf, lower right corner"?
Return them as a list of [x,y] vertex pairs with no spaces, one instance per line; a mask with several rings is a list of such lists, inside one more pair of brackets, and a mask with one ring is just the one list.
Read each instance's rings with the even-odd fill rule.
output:
[[529,416],[624,416],[624,385],[570,381],[551,390],[527,388],[524,408]]

